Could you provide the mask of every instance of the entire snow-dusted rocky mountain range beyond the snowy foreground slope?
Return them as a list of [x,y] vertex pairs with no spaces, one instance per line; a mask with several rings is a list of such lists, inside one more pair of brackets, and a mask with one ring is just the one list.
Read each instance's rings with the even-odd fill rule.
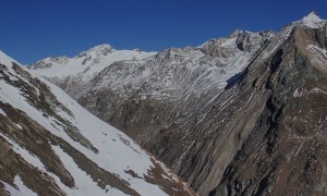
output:
[[199,195],[326,195],[326,23],[311,12],[278,33],[235,30],[121,61],[100,47],[31,69]]

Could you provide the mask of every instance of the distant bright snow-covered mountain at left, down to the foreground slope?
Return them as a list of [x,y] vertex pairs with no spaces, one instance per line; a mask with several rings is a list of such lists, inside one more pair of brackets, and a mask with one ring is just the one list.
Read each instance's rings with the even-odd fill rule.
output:
[[46,58],[28,68],[76,98],[92,85],[95,76],[111,63],[122,60],[134,62],[154,54],[156,52],[144,52],[138,49],[116,50],[110,45],[100,45],[74,58]]

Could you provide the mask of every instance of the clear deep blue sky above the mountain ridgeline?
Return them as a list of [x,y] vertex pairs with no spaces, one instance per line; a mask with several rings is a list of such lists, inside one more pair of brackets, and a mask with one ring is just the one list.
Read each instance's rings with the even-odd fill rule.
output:
[[312,10],[327,19],[327,0],[1,0],[0,50],[25,64],[100,44],[160,51],[279,30]]

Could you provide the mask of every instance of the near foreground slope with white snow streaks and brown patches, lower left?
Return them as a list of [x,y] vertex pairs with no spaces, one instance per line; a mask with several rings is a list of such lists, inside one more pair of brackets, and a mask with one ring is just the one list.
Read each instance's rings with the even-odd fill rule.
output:
[[[51,176],[62,192],[57,191],[58,195],[192,194],[162,163],[126,135],[88,113],[60,88],[31,75],[3,52],[0,63],[0,144],[9,145],[24,163]],[[15,119],[15,112],[24,118]],[[29,144],[20,134],[34,133],[31,124],[41,137]],[[37,144],[43,144],[44,149],[35,147]],[[46,161],[46,149],[58,156],[58,166],[62,167],[58,172]],[[0,148],[0,159],[4,160],[3,150]],[[12,195],[41,193],[24,180],[26,171],[16,172],[14,167],[12,170],[15,175],[11,177],[0,175],[0,195],[1,188]],[[61,175],[64,170],[68,173]],[[66,175],[71,175],[66,177],[71,183],[63,181]]]

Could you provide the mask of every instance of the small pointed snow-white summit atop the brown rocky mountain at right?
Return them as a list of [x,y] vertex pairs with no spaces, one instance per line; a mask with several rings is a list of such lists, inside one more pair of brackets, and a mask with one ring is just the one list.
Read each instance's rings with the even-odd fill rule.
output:
[[310,12],[306,16],[302,17],[301,21],[295,21],[292,25],[301,25],[310,28],[319,28],[326,24],[326,20],[322,20],[318,14],[314,11]]

